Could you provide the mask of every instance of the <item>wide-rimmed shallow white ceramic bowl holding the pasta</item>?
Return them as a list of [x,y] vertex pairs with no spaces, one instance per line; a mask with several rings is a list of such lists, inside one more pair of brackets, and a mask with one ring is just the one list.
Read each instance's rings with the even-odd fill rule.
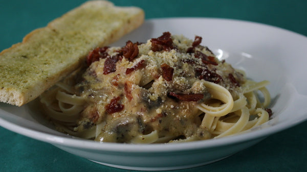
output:
[[127,40],[145,41],[163,32],[203,37],[218,58],[244,69],[255,81],[269,80],[273,119],[244,134],[174,144],[99,143],[59,133],[36,111],[32,102],[23,107],[0,104],[0,125],[16,133],[49,142],[92,161],[126,169],[168,170],[211,163],[261,141],[270,134],[307,119],[307,38],[265,24],[214,18],[147,20]]

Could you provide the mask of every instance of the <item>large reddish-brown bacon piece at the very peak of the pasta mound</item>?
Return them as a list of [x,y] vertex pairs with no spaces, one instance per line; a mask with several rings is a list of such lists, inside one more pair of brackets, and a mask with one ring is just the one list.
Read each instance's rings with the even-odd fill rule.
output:
[[164,32],[163,35],[158,38],[151,38],[151,50],[153,52],[172,50],[174,47],[172,45],[173,41],[170,35],[171,34],[169,32]]

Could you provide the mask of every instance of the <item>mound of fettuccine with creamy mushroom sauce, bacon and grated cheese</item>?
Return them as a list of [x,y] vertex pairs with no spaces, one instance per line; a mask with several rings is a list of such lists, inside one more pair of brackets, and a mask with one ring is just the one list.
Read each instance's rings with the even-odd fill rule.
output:
[[269,81],[246,79],[201,40],[166,32],[146,43],[96,48],[89,66],[40,102],[57,130],[101,142],[221,138],[267,122]]

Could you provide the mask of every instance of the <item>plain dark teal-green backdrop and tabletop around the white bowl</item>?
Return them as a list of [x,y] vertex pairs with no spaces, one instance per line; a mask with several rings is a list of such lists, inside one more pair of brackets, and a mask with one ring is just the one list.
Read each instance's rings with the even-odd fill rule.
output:
[[[0,1],[0,50],[84,1]],[[270,24],[307,36],[307,1],[113,1],[138,6],[146,19],[216,17]],[[287,41],[287,40],[284,40]],[[282,42],[281,42],[282,43]],[[295,57],[293,57],[295,60]],[[222,161],[178,171],[305,171],[307,122],[271,135]],[[0,171],[126,171],[103,166],[0,127]],[[131,170],[129,170],[131,171]]]

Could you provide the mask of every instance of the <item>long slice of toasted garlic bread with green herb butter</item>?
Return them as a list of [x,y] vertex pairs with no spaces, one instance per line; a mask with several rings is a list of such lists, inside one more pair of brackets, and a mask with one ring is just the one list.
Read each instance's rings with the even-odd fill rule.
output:
[[77,69],[89,51],[141,26],[144,12],[89,1],[0,53],[0,102],[24,105]]

